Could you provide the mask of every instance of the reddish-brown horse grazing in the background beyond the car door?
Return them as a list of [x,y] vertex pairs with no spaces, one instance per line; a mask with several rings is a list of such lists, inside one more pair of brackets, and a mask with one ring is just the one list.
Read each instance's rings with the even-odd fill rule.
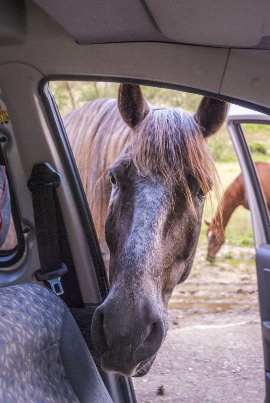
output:
[[[266,162],[256,162],[255,166],[264,193],[266,205],[270,213],[270,164]],[[230,186],[223,194],[213,222],[209,223],[206,221],[206,224],[208,225],[208,258],[212,260],[216,258],[217,252],[225,242],[226,225],[228,224],[234,210],[240,205],[249,210],[247,194],[242,174],[237,176],[234,182],[230,184]]]

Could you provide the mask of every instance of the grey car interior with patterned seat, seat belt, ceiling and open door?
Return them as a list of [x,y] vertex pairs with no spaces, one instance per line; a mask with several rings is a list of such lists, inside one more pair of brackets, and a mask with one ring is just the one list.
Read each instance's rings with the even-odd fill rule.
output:
[[131,378],[100,370],[91,341],[109,283],[50,90],[69,80],[237,105],[227,126],[252,216],[270,402],[270,220],[241,128],[270,122],[268,2],[16,0],[1,2],[0,19],[1,400],[137,401]]

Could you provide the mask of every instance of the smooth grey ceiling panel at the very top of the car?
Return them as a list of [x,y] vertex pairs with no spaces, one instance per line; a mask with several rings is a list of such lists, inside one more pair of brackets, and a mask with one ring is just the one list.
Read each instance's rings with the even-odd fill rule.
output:
[[80,44],[162,41],[225,47],[270,45],[267,0],[35,0]]

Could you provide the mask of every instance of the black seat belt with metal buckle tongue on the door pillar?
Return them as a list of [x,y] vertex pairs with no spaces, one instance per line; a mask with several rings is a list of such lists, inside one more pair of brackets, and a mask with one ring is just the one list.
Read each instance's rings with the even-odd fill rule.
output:
[[57,221],[54,207],[54,192],[61,176],[52,166],[43,162],[32,169],[27,186],[33,194],[33,209],[40,269],[35,272],[38,281],[48,281],[52,291],[63,294],[61,276],[67,272],[61,262]]

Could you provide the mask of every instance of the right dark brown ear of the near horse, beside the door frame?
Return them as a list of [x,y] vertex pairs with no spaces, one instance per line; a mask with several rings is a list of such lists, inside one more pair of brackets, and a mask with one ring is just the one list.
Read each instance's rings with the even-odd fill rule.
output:
[[227,108],[227,102],[209,97],[201,99],[198,109],[194,114],[194,119],[205,137],[214,135],[222,126]]

